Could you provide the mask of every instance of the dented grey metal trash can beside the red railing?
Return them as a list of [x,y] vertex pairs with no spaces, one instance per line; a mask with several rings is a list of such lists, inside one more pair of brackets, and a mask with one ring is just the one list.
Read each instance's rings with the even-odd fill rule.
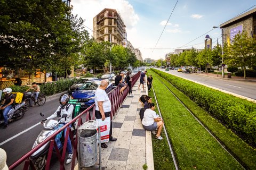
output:
[[80,168],[93,166],[97,162],[97,130],[85,129],[79,133]]

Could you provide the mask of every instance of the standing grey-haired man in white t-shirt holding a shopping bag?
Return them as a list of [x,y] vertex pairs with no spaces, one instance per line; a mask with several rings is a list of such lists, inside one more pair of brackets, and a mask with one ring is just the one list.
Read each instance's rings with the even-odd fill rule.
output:
[[[101,118],[102,121],[111,114],[111,102],[106,93],[106,88],[108,87],[108,80],[101,80],[100,87],[95,91],[95,117],[97,119]],[[116,138],[112,137],[112,121],[110,122],[109,140],[116,141]],[[101,143],[102,148],[107,148],[106,143]]]

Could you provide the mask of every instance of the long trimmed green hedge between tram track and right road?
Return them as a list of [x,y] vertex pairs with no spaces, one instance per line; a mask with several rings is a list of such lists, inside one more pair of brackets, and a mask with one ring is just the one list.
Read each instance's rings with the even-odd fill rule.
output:
[[256,146],[256,104],[203,85],[152,69],[198,106]]

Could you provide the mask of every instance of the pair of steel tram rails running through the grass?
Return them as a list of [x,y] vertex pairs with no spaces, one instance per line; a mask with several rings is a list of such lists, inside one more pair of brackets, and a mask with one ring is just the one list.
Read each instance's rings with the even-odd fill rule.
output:
[[[198,120],[198,118],[193,114],[193,112],[190,111],[190,109],[189,109],[187,106],[185,106],[185,104],[182,103],[182,101],[171,91],[171,89],[168,88],[168,87],[165,85],[165,83],[164,83],[161,79],[159,79],[159,75],[158,75],[158,74],[155,74],[155,73],[154,73],[154,78],[157,78],[157,79],[164,85],[164,87],[167,89],[167,91],[169,91],[169,92],[179,101],[179,103],[182,104],[182,106],[187,109],[187,111],[195,118],[195,120],[196,120],[201,126],[203,126],[203,128],[211,135],[211,137],[214,138],[215,141],[217,141],[218,144],[219,144],[226,152],[228,152],[228,154],[229,154],[243,169],[246,169],[246,168],[243,166],[243,164],[227,149],[227,147],[226,147],[225,145],[223,145],[222,142],[221,142],[217,137],[215,137],[215,135],[214,135],[209,129],[207,129],[207,127],[206,127],[200,120]],[[162,78],[162,77],[161,77],[161,78]],[[171,84],[170,82],[167,82],[167,83]],[[156,100],[156,104],[157,104],[157,109],[158,109],[159,115],[160,115],[161,118],[162,118],[161,109],[160,109],[160,107],[159,107],[159,105],[158,105],[158,102],[157,102],[157,97],[156,97],[156,94],[155,94],[154,86],[152,86],[152,89],[153,89],[154,97],[155,97],[155,100]],[[171,145],[171,142],[170,142],[170,140],[169,140],[169,139],[171,139],[171,138],[169,138],[169,135],[168,135],[168,133],[167,133],[167,131],[166,131],[165,125],[164,125],[164,132],[165,132],[165,136],[166,136],[166,139],[167,139],[167,142],[168,142],[168,145],[169,145],[169,149],[170,149],[170,152],[171,152],[171,155],[172,155],[172,159],[173,159],[173,162],[174,162],[175,169],[179,169],[178,163],[177,163],[177,161],[176,161],[177,158],[175,158],[175,153],[174,153],[174,151],[173,151],[173,149],[172,149],[172,145]]]

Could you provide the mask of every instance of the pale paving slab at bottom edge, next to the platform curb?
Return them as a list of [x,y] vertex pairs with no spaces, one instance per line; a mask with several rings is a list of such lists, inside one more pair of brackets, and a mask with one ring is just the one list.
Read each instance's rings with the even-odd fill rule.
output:
[[142,166],[146,163],[146,157],[129,155],[127,158],[125,170],[142,169]]

